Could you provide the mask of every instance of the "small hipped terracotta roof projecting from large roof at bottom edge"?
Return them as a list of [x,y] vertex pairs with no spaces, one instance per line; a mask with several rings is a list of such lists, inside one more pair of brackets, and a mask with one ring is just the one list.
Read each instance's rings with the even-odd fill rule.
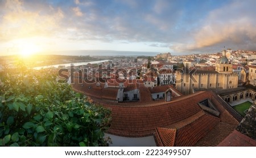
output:
[[173,147],[176,130],[170,128],[156,128],[154,139],[158,147]]

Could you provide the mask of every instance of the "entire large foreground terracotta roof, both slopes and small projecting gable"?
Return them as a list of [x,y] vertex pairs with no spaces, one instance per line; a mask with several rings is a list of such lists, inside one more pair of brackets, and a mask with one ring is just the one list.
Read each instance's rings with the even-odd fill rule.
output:
[[[198,103],[202,99],[210,99],[220,116],[215,117],[201,109]],[[222,106],[213,92],[199,92],[148,106],[105,106],[112,110],[109,134],[133,138],[154,135],[158,145],[193,146],[208,136],[218,138],[208,144],[215,146],[238,125],[238,120]]]

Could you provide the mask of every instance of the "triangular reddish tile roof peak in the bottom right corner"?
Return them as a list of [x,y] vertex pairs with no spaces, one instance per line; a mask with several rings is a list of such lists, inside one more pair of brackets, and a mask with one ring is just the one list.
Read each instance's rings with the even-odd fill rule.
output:
[[256,147],[256,141],[249,136],[241,134],[237,130],[234,130],[232,134],[226,137],[219,147]]

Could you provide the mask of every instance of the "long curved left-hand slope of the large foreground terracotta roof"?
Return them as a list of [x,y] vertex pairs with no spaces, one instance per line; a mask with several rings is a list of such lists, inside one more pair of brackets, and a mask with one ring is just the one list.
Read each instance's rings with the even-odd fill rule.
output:
[[112,134],[114,130],[119,130],[122,131],[122,136],[127,137],[130,136],[130,131],[145,131],[145,134],[148,134],[147,131],[154,132],[156,127],[165,127],[198,113],[201,109],[197,102],[200,100],[201,97],[191,95],[189,99],[176,99],[175,101],[161,103],[158,106],[108,106],[112,107],[113,119],[110,126],[112,130],[109,132]]

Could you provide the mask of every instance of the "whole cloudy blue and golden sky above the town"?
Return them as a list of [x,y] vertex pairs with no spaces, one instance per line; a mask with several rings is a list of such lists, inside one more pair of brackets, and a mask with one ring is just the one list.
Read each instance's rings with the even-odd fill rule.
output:
[[256,1],[0,0],[0,55],[256,51]]

